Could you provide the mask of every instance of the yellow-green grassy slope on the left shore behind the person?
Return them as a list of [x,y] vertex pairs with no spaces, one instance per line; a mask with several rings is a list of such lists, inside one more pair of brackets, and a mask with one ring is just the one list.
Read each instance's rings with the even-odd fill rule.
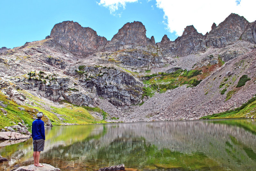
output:
[[[20,91],[20,90],[19,90]],[[44,108],[44,101],[38,97],[35,97],[31,94],[29,94],[26,91],[22,91],[24,95],[26,95],[27,99],[34,102],[35,105],[31,106],[19,106],[14,101],[8,100],[7,96],[0,93],[0,100],[4,101],[4,104],[7,105],[4,110],[7,111],[7,116],[4,116],[4,113],[0,111],[0,128],[4,128],[5,126],[12,126],[14,125],[11,121],[14,121],[16,123],[21,122],[21,120],[24,120],[25,124],[28,124],[28,127],[31,127],[33,118],[36,116],[36,110],[42,111],[44,115],[46,115],[49,120],[51,120],[52,125],[58,126],[63,125],[66,123],[76,123],[76,124],[87,124],[87,123],[104,123],[104,120],[95,119],[90,112],[93,111],[94,108],[87,107],[87,110],[84,107],[76,106],[73,104],[69,104],[66,102],[62,102],[62,105],[64,105],[64,108],[57,108],[51,106],[50,110],[46,110]],[[45,104],[47,105],[47,104]],[[24,107],[25,111],[20,111],[18,107]],[[98,109],[98,108],[96,108]],[[91,110],[91,111],[90,111]],[[99,109],[100,112],[104,112]],[[60,120],[57,116],[57,114],[60,114],[60,117],[65,120]],[[105,113],[104,113],[105,114]],[[47,117],[43,117],[44,122],[48,120]]]

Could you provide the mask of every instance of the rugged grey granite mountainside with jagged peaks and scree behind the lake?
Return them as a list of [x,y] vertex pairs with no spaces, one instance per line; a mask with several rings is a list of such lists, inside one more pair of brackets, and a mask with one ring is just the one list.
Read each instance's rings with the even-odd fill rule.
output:
[[[56,106],[63,100],[98,106],[109,114],[108,121],[198,119],[237,107],[256,93],[255,32],[256,21],[233,13],[218,26],[213,23],[206,35],[192,25],[175,41],[164,35],[159,43],[146,36],[138,21],[126,23],[111,41],[64,21],[42,41],[4,48],[1,82]],[[235,89],[244,74],[250,84]],[[218,88],[227,78],[227,92],[236,90],[228,100]],[[25,94],[7,95],[20,105],[30,104]]]

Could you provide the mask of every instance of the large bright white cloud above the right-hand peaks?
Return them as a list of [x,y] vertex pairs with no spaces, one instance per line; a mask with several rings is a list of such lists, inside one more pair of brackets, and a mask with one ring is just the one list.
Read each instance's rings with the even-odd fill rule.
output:
[[176,35],[182,35],[188,25],[205,34],[213,22],[220,24],[230,13],[244,16],[250,22],[256,19],[255,0],[156,0],[156,6],[163,9],[164,23]]

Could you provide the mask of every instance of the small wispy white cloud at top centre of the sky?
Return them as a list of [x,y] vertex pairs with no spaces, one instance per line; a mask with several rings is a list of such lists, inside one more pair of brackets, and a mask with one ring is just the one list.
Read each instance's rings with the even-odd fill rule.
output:
[[[115,12],[120,8],[123,7],[125,9],[126,3],[134,3],[138,2],[138,0],[100,0],[98,3],[99,5],[102,5],[109,9],[110,14],[116,15]],[[121,14],[117,14],[120,15]]]

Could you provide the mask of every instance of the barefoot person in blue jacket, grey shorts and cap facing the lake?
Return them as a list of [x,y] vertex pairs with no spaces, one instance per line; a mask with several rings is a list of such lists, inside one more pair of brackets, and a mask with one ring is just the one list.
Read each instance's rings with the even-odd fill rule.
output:
[[34,165],[43,167],[41,163],[39,163],[40,152],[44,151],[44,121],[41,120],[43,117],[43,112],[38,112],[36,114],[37,119],[32,123],[32,138],[33,138],[33,157],[34,157]]

